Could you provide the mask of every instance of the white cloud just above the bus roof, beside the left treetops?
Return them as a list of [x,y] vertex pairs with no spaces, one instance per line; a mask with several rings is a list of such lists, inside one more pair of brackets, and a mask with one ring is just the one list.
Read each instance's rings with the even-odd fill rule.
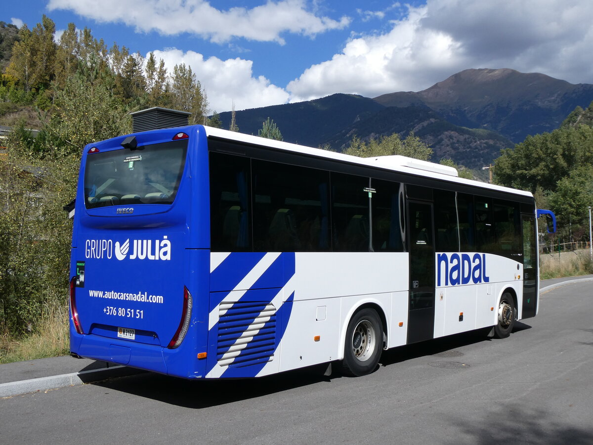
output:
[[225,61],[216,57],[204,59],[200,53],[178,49],[156,50],[154,56],[157,61],[162,59],[165,62],[168,72],[173,72],[173,67],[179,63],[191,66],[208,94],[211,110],[228,111],[232,103],[235,110],[265,107],[286,103],[289,98],[285,90],[270,84],[265,77],[253,77],[252,61],[240,58]]

